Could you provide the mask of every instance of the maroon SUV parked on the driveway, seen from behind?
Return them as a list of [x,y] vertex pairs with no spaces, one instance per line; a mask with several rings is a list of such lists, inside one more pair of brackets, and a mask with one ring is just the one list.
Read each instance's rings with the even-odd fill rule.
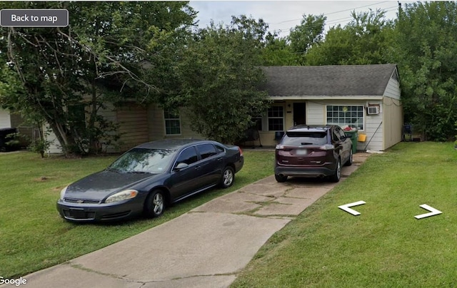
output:
[[352,164],[352,142],[338,125],[297,125],[276,145],[274,176],[341,178],[341,165]]

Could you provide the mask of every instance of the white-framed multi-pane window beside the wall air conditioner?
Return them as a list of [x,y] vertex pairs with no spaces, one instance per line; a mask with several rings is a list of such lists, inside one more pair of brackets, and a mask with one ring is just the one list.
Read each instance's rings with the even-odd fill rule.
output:
[[327,124],[363,130],[363,106],[328,105]]

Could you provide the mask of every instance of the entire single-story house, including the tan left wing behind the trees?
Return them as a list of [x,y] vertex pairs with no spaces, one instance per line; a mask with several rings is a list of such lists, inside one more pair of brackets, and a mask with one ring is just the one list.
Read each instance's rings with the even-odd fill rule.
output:
[[[395,64],[347,66],[268,66],[266,91],[273,101],[254,118],[263,146],[296,124],[338,124],[366,136],[358,150],[386,150],[401,141],[403,109]],[[120,150],[164,138],[202,138],[191,130],[184,108],[163,110],[152,103],[107,108],[104,115],[119,123]],[[52,136],[51,136],[52,137]],[[59,152],[51,145],[50,152]]]

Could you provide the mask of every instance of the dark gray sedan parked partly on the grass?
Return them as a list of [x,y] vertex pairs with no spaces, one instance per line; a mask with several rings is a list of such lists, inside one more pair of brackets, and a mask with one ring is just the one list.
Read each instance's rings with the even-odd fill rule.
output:
[[160,216],[166,207],[219,185],[243,167],[238,146],[210,140],[159,140],[136,146],[106,170],[61,190],[57,210],[69,221]]

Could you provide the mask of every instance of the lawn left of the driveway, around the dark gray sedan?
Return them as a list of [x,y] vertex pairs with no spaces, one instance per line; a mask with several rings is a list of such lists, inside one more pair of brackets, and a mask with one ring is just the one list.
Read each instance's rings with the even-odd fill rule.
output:
[[66,222],[59,216],[56,201],[60,190],[102,170],[115,156],[41,159],[28,152],[0,155],[0,276],[20,277],[98,250],[272,174],[272,152],[245,151],[244,157],[245,165],[229,189],[190,197],[152,220],[82,225]]

